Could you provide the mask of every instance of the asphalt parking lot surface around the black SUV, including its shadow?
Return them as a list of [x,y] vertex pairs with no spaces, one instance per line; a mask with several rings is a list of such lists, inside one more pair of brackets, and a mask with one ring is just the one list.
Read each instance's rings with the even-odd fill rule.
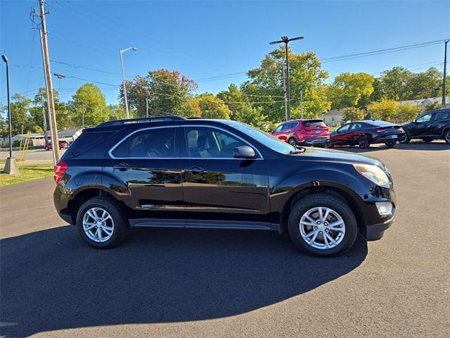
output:
[[449,337],[449,146],[341,150],[387,164],[398,212],[338,258],[238,230],[133,229],[91,249],[56,215],[51,179],[1,188],[1,335]]

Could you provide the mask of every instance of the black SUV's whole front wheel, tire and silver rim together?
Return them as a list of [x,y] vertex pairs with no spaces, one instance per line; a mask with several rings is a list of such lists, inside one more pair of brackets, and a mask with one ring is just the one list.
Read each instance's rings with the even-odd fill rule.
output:
[[358,227],[352,209],[331,194],[312,194],[297,201],[289,215],[289,235],[295,246],[315,256],[348,251]]

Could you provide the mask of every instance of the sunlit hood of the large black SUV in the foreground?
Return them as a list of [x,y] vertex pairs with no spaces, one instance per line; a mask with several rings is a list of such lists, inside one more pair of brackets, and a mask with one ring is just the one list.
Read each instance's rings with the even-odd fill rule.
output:
[[300,156],[309,157],[311,159],[322,159],[323,161],[372,164],[378,165],[380,168],[385,169],[385,165],[376,158],[353,154],[347,151],[307,147],[307,150]]

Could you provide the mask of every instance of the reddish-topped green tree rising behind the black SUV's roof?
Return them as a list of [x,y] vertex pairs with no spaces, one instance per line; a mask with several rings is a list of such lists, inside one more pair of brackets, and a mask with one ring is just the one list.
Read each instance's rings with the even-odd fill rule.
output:
[[[151,115],[188,116],[193,113],[185,109],[193,108],[193,102],[187,101],[197,84],[177,70],[150,70],[145,77],[137,76],[133,81],[127,81],[126,86],[129,107],[136,108],[137,116],[146,116],[147,91]],[[124,102],[122,90],[119,99]]]

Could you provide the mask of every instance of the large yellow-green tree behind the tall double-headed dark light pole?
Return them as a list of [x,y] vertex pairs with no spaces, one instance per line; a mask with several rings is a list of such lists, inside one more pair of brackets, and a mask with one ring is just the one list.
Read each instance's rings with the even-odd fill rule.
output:
[[[328,73],[321,69],[319,58],[313,52],[293,54],[288,49],[290,63],[290,98],[292,115],[300,115],[300,92],[304,97],[304,116],[317,117],[330,109],[323,92],[323,80]],[[285,115],[283,74],[285,49],[281,46],[269,52],[258,68],[249,70],[249,80],[241,86],[254,107],[262,108],[269,120],[281,121]],[[254,95],[254,96],[251,96]],[[250,101],[250,99],[248,101]]]

